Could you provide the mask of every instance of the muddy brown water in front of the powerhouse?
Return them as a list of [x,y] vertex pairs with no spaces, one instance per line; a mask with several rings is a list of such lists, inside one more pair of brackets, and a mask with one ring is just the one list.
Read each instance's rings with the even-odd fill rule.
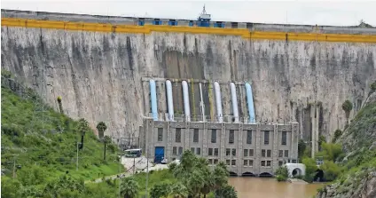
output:
[[230,178],[239,198],[311,198],[324,184],[278,182],[276,178]]

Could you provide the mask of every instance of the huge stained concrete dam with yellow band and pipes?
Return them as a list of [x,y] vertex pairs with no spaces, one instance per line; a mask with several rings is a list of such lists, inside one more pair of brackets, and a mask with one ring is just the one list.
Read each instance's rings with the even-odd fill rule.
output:
[[300,138],[330,139],[342,103],[351,119],[376,79],[376,28],[161,21],[2,10],[1,67],[114,139],[138,136],[145,117],[297,122]]

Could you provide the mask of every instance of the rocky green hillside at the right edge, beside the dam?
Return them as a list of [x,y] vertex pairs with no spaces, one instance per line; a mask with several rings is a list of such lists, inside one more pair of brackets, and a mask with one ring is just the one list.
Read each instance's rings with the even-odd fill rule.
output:
[[337,141],[347,152],[344,174],[317,198],[376,197],[376,94],[368,101]]

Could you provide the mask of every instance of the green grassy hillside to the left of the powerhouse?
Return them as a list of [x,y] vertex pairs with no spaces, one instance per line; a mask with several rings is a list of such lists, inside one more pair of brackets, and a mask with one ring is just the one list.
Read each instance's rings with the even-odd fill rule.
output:
[[[90,129],[84,133],[76,170],[77,142],[81,141],[78,122],[55,112],[43,104],[34,91],[23,88],[10,77],[9,73],[2,71],[1,169],[4,197],[27,197],[24,195],[30,188],[42,191],[56,179],[66,179],[59,178],[62,175],[83,181],[123,170],[116,162],[117,147],[113,144],[107,147],[107,160],[104,161],[103,144]],[[21,192],[25,194],[20,195]]]

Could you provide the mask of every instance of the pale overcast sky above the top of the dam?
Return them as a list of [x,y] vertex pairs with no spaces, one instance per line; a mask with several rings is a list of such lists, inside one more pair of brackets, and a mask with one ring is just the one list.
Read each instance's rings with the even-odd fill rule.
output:
[[305,25],[376,26],[376,1],[126,1],[2,0],[2,9],[197,19],[206,4],[212,20]]

